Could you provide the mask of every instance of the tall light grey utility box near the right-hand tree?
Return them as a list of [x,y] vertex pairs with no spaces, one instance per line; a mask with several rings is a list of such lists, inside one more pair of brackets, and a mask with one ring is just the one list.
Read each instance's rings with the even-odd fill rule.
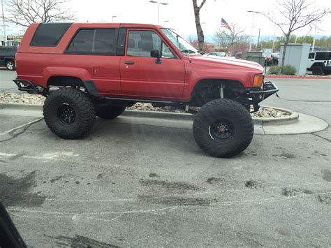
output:
[[[304,75],[307,71],[307,59],[311,44],[294,44],[290,43],[286,47],[284,65],[294,66],[297,69],[297,75]],[[281,44],[279,52],[279,65],[283,61],[284,44]]]

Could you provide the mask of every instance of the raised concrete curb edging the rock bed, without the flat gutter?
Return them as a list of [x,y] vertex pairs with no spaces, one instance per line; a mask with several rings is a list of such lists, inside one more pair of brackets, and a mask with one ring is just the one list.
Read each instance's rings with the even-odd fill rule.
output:
[[[264,106],[265,108],[274,108],[270,106]],[[263,118],[263,117],[253,117],[253,123],[261,126],[270,125],[286,125],[297,122],[299,114],[291,110],[286,110],[283,108],[274,108],[276,110],[282,110],[285,112],[290,112],[289,117],[279,117],[279,118]],[[0,103],[0,110],[7,110],[9,112],[13,111],[23,111],[25,114],[31,112],[32,115],[38,115],[37,112],[43,110],[43,105],[38,104],[24,104],[24,103]],[[161,111],[145,111],[145,110],[126,110],[123,114],[126,117],[140,117],[140,118],[158,118],[158,119],[176,119],[176,120],[191,120],[193,121],[194,115],[189,113],[177,113],[177,112],[161,112]]]

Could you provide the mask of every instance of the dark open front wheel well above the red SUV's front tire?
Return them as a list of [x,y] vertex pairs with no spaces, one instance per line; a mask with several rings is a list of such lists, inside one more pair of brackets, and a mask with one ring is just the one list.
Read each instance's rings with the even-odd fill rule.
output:
[[237,80],[204,79],[200,80],[191,93],[190,105],[201,106],[209,101],[220,98],[220,88],[223,87],[224,98],[233,99],[245,92],[245,87]]

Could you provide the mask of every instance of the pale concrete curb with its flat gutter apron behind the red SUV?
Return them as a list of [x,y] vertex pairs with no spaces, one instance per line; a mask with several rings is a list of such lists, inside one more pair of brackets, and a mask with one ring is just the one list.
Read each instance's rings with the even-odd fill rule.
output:
[[[0,103],[0,115],[43,117],[41,110],[41,105]],[[287,111],[290,112],[290,110]],[[298,119],[296,119],[296,117],[298,117]],[[192,129],[193,119],[194,115],[191,114],[127,110],[123,115],[113,120],[97,119],[96,124],[109,122],[110,124],[140,124],[146,126]],[[256,121],[254,121],[254,134],[256,135],[312,133],[322,131],[326,128],[328,128],[328,123],[324,122],[323,119],[301,113],[300,116],[299,114],[291,115],[291,117],[286,120],[286,123],[282,122],[282,124],[274,124],[274,122],[256,123]]]

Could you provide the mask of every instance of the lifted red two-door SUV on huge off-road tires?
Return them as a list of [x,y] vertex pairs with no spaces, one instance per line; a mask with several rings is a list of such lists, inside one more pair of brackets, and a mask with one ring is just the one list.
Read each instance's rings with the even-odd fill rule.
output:
[[113,119],[147,102],[195,114],[199,147],[234,156],[253,137],[250,106],[257,111],[278,91],[259,64],[204,55],[172,29],[149,24],[34,23],[15,59],[13,81],[47,97],[45,122],[67,139],[84,136],[96,116]]

